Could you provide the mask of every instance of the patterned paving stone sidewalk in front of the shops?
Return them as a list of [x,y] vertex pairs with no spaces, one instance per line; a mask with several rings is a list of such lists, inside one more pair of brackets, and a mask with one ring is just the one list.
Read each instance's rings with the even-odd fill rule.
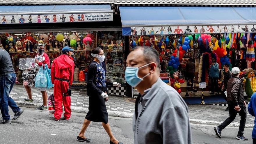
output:
[[[32,88],[32,97],[35,103],[42,103],[42,94],[37,91],[37,88]],[[53,94],[53,89],[47,90],[48,96]],[[15,101],[23,101],[27,98],[26,90],[22,85],[15,85],[10,93]],[[109,96],[109,101],[106,102],[107,110],[116,112],[134,113],[135,99],[127,97]],[[85,91],[72,90],[71,106],[88,108],[89,96]],[[214,105],[189,105],[189,118],[202,121],[223,122],[228,118],[229,113],[225,111],[227,106]],[[237,115],[235,123],[240,122],[240,116]],[[247,111],[246,124],[254,125],[254,117]]]

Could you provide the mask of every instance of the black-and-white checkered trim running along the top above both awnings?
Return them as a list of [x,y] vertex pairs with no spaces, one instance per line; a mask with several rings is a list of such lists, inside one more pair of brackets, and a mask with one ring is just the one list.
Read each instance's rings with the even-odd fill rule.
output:
[[128,4],[129,6],[172,6],[172,5],[255,5],[255,0],[1,0],[1,4]]

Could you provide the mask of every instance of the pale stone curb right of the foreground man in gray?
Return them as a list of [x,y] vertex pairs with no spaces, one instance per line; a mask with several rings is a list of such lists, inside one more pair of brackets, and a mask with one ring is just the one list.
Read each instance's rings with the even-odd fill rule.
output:
[[[198,119],[189,119],[189,122],[192,124],[203,124],[203,125],[220,125],[222,122],[216,122],[216,121],[210,121],[210,120],[198,120]],[[238,122],[231,122],[229,125],[229,127],[239,127],[239,123]],[[246,128],[253,128],[254,125],[252,124],[246,124],[245,127]]]

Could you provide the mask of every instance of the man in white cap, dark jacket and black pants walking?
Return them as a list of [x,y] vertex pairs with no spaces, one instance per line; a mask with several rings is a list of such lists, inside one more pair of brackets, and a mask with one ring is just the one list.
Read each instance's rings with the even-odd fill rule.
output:
[[214,127],[216,136],[221,138],[221,131],[225,129],[231,122],[233,122],[237,116],[240,115],[239,131],[236,139],[248,141],[248,138],[243,136],[243,131],[246,124],[246,102],[243,95],[243,83],[239,78],[240,69],[233,67],[232,77],[227,82],[227,104],[229,117],[218,127]]

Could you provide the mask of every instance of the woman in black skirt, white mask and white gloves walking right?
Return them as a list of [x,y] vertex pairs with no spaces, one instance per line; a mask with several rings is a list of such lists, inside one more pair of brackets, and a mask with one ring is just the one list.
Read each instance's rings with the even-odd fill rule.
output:
[[105,102],[108,100],[106,85],[118,86],[119,83],[111,83],[105,81],[105,71],[101,67],[100,62],[105,59],[104,52],[101,48],[95,48],[91,51],[93,62],[88,68],[87,95],[89,96],[89,111],[83,121],[82,129],[77,136],[77,141],[91,142],[90,139],[84,136],[84,133],[90,122],[102,122],[102,126],[106,130],[110,138],[110,144],[123,144],[119,142],[112,134],[109,122],[108,112]]

